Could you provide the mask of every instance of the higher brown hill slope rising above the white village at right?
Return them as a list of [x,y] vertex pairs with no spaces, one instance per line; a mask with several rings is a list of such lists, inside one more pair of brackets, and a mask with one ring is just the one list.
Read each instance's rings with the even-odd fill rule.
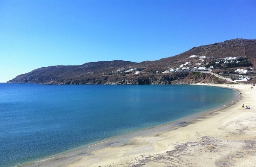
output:
[[173,57],[162,58],[157,61],[142,62],[140,64],[151,70],[161,71],[167,70],[168,67],[179,67],[180,64],[188,61],[192,61],[193,64],[200,62],[200,59],[189,58],[191,55],[208,57],[206,63],[209,63],[210,58],[248,58],[249,62],[253,64],[253,66],[256,66],[256,39],[232,39],[220,43],[202,45],[193,47],[189,51],[185,51]]

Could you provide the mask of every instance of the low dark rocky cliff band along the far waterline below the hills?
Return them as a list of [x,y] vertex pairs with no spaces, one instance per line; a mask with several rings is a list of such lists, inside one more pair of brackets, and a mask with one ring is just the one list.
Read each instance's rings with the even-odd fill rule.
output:
[[[26,82],[20,82],[26,83]],[[33,82],[30,82],[33,83]],[[34,82],[38,83],[38,82]],[[146,74],[137,76],[101,76],[81,79],[59,79],[56,81],[43,82],[44,84],[191,84],[191,83],[228,83],[209,73],[179,72],[169,74]]]

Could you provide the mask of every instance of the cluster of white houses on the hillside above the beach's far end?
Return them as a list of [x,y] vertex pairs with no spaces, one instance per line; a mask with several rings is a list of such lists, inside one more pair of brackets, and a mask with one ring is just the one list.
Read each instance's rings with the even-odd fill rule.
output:
[[[187,58],[189,61],[180,64],[180,66],[168,67],[166,71],[155,71],[155,73],[173,73],[173,72],[207,72],[215,73],[223,79],[229,79],[233,82],[249,81],[256,77],[252,64],[247,58],[226,57],[215,58],[207,56],[191,55]],[[240,67],[236,68],[235,67]],[[243,68],[242,68],[243,67]],[[141,74],[145,73],[145,68],[120,68],[113,71],[113,74]],[[147,71],[152,72],[152,71]]]

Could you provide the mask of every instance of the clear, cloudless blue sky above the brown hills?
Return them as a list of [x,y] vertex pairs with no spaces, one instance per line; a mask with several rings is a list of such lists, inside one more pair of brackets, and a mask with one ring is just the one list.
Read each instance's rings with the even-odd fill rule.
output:
[[0,82],[50,65],[256,39],[256,0],[0,0]]

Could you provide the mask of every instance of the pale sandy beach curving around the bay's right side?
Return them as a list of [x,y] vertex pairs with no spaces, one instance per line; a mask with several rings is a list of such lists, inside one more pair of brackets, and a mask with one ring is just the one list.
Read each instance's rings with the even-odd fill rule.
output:
[[[212,86],[236,89],[242,93],[241,100],[179,127],[139,135],[94,149],[89,154],[67,154],[35,164],[41,167],[256,167],[256,87]],[[246,105],[251,109],[246,109]]]

